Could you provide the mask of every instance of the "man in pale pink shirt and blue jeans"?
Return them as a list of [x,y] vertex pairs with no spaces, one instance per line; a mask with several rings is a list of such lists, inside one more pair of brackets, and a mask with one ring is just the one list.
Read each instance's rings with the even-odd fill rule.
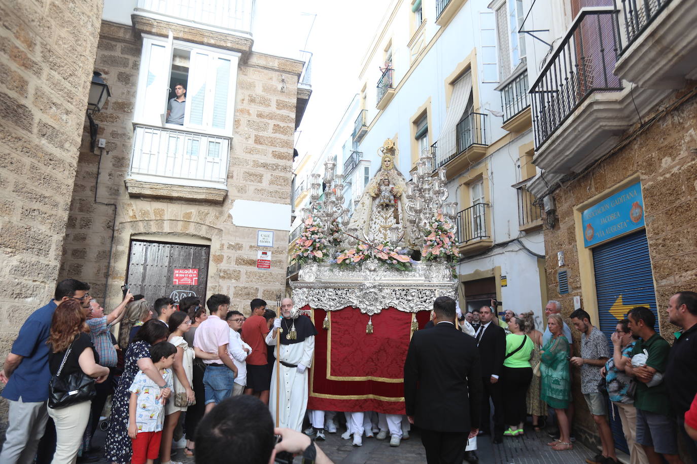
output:
[[237,376],[237,367],[228,351],[230,327],[225,321],[230,307],[227,295],[215,294],[208,298],[206,306],[210,311],[208,319],[201,322],[194,334],[194,348],[206,353],[216,354],[216,359],[204,359],[204,387],[206,389],[206,413],[217,403],[232,394]]

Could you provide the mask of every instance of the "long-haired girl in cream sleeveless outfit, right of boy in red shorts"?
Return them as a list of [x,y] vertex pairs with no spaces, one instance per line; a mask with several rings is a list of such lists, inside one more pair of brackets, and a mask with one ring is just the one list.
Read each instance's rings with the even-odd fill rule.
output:
[[[164,427],[162,428],[162,444],[160,445],[160,462],[162,464],[181,464],[171,461],[171,441],[174,428],[182,411],[194,404],[195,395],[192,388],[194,370],[194,349],[187,344],[184,334],[191,328],[191,319],[183,311],[177,311],[169,317],[169,339],[167,341],[176,347],[174,355],[174,392],[164,406]],[[208,353],[206,353],[208,354]]]

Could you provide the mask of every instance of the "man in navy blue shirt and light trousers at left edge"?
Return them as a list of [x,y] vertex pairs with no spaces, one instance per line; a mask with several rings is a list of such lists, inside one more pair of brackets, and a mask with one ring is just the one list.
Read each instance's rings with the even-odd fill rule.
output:
[[79,280],[61,280],[54,299],[34,311],[22,324],[0,373],[0,381],[6,383],[2,396],[10,403],[9,424],[0,463],[33,462],[48,419],[46,400],[51,373],[46,340],[53,313],[66,300],[77,300],[86,306],[89,302],[88,290],[89,285]]

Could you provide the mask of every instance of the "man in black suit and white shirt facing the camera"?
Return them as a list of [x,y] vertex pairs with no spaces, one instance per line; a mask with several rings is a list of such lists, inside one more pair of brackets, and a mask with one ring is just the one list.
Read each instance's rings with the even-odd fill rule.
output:
[[491,410],[489,398],[493,403],[493,443],[503,442],[503,392],[501,392],[498,376],[503,370],[503,359],[506,352],[506,333],[496,321],[489,306],[480,308],[482,326],[475,333],[480,358],[482,358],[482,434],[491,433]]

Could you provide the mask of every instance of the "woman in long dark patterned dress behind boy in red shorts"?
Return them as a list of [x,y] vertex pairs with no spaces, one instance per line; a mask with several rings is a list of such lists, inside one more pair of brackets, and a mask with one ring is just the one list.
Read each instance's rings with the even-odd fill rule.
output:
[[164,342],[169,335],[169,329],[161,321],[151,319],[141,326],[133,342],[128,345],[125,354],[123,374],[118,381],[118,387],[112,397],[112,414],[109,417],[109,429],[104,445],[104,456],[117,464],[131,461],[131,439],[128,436],[128,388],[138,371],[143,371],[158,385],[164,385],[164,378],[150,358],[150,346]]

